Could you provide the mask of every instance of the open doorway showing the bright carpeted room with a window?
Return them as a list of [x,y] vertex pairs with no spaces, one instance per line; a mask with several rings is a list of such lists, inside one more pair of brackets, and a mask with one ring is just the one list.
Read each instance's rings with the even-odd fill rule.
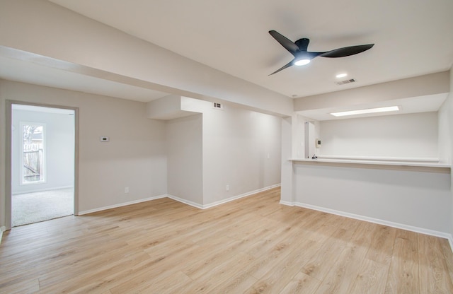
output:
[[77,110],[21,102],[8,109],[9,228],[76,214]]

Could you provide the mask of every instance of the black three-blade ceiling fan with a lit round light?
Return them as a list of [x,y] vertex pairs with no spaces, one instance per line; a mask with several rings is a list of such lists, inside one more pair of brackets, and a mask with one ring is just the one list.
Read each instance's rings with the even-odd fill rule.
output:
[[360,52],[364,52],[374,46],[374,44],[356,45],[333,49],[331,51],[326,52],[309,52],[307,51],[307,47],[309,46],[310,40],[305,37],[297,40],[296,42],[292,42],[287,37],[278,33],[275,30],[270,30],[269,33],[271,36],[274,37],[275,40],[277,40],[277,42],[280,43],[280,45],[285,47],[285,49],[287,49],[289,53],[291,53],[294,56],[294,59],[292,59],[292,61],[290,61],[285,66],[282,66],[280,69],[277,69],[273,73],[270,73],[270,75],[282,71],[283,69],[287,69],[289,66],[293,65],[300,66],[309,64],[311,59],[314,59],[315,57],[319,56],[331,58],[346,57]]

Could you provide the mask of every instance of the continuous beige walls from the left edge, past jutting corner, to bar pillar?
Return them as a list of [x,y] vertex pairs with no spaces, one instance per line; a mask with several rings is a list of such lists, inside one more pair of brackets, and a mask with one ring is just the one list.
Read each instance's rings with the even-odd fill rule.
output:
[[[80,212],[166,195],[203,207],[280,184],[280,117],[190,100],[200,114],[162,121],[148,119],[142,102],[0,80],[2,125],[6,100],[79,108]],[[5,145],[0,151],[4,175]]]

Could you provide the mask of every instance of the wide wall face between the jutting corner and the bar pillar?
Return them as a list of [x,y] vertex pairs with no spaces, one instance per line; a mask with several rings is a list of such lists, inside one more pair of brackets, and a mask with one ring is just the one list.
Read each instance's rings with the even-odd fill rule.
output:
[[203,112],[205,205],[280,184],[281,124],[280,117],[229,105]]

